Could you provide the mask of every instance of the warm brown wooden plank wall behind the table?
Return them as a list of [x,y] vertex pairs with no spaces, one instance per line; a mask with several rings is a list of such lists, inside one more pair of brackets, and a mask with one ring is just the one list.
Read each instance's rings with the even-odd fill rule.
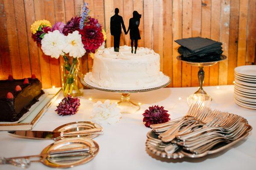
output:
[[[105,28],[107,47],[113,46],[109,27],[114,8],[126,27],[134,10],[142,14],[139,46],[160,54],[161,70],[172,78],[170,86],[198,86],[198,68],[176,60],[174,40],[180,38],[202,36],[223,43],[228,60],[205,68],[205,85],[233,84],[236,66],[256,62],[256,0],[0,0],[0,79],[35,74],[44,88],[60,86],[60,61],[42,53],[30,25],[39,19],[67,22],[84,2]],[[122,33],[124,44],[130,39]],[[84,73],[92,69],[87,55],[81,62]]]

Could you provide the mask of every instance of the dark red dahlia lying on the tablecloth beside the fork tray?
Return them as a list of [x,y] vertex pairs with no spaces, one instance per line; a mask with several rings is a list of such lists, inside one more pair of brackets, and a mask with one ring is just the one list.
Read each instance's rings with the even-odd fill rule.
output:
[[163,106],[148,107],[143,113],[143,122],[146,127],[150,127],[151,124],[161,124],[170,120],[168,110],[165,110]]

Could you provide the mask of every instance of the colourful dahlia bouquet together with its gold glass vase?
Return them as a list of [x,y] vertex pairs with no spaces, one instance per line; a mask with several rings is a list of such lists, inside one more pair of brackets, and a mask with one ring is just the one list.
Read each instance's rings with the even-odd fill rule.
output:
[[88,3],[84,3],[81,16],[72,17],[67,23],[53,26],[48,20],[37,20],[31,25],[32,37],[45,55],[63,58],[62,89],[64,95],[79,96],[79,59],[87,52],[92,56],[104,48],[106,33],[95,18],[90,17]]

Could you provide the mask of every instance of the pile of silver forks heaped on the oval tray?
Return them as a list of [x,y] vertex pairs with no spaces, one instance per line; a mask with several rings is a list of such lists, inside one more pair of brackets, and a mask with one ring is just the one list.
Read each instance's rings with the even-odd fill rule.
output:
[[192,105],[185,116],[150,127],[155,137],[147,135],[146,146],[168,155],[180,150],[202,154],[217,144],[235,141],[251,130],[247,120],[241,116],[212,110],[199,102]]

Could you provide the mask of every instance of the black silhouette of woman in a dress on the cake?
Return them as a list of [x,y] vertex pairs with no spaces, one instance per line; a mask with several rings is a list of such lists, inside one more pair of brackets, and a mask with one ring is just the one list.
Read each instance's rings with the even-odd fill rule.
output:
[[138,47],[138,40],[140,40],[139,25],[140,25],[141,14],[139,14],[137,11],[134,11],[132,14],[133,14],[133,17],[130,18],[130,20],[129,20],[129,27],[127,29],[127,32],[125,32],[125,35],[128,34],[128,32],[130,30],[131,53],[133,53],[133,44],[135,43],[134,54],[136,54],[136,50]]

